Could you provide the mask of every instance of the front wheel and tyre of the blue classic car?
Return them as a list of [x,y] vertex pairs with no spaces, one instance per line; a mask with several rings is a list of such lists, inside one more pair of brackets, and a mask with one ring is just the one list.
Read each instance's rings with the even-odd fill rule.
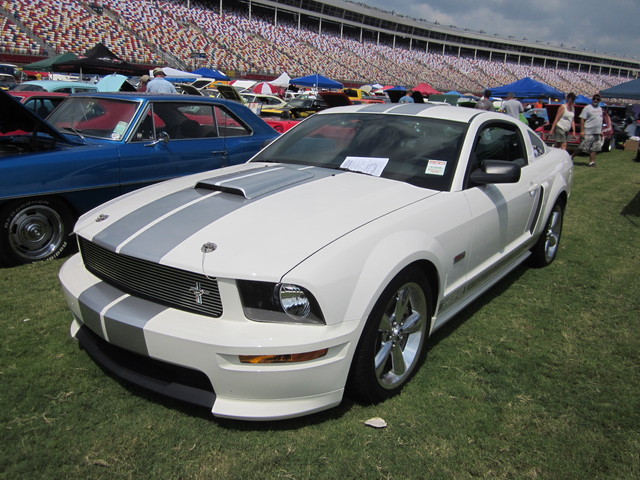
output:
[[67,206],[34,198],[7,204],[0,212],[0,263],[12,266],[49,260],[69,248],[73,225]]

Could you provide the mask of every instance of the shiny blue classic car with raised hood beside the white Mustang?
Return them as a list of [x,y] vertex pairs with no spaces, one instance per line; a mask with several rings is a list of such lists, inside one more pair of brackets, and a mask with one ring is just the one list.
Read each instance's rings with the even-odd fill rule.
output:
[[44,121],[0,92],[0,264],[56,258],[78,216],[170,178],[247,161],[278,133],[236,102],[80,93]]

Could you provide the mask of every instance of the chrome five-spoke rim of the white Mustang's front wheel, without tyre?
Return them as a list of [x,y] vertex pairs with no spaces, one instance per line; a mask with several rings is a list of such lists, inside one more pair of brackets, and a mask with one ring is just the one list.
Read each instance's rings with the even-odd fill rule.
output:
[[382,388],[393,389],[405,383],[418,363],[428,324],[422,287],[413,282],[402,285],[389,300],[378,325],[374,368]]

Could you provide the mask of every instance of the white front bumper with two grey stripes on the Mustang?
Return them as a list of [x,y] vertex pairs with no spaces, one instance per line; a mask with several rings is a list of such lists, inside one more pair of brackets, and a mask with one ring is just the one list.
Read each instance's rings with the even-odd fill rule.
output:
[[[144,388],[206,406],[220,417],[283,419],[342,400],[358,322],[258,323],[244,317],[235,282],[219,279],[221,318],[132,297],[89,273],[79,254],[60,271],[71,334],[103,368]],[[310,352],[298,363],[246,364],[239,355]],[[143,360],[143,361],[141,361]]]

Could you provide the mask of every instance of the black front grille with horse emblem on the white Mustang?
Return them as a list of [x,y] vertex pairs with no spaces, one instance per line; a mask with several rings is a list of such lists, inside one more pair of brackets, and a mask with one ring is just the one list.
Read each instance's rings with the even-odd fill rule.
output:
[[179,310],[222,315],[215,278],[120,255],[82,237],[79,243],[87,270],[123,292]]

